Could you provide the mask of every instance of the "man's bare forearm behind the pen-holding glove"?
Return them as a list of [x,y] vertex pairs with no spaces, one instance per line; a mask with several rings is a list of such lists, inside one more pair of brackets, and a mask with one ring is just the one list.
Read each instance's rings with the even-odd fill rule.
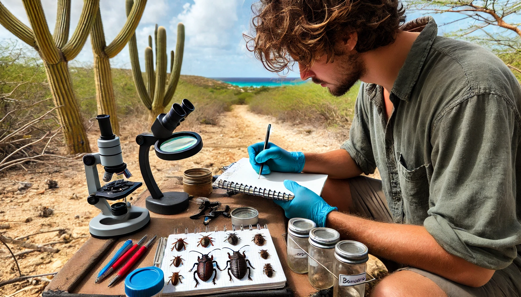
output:
[[328,174],[330,178],[350,178],[362,174],[348,151],[338,149],[324,153],[305,153],[304,172]]

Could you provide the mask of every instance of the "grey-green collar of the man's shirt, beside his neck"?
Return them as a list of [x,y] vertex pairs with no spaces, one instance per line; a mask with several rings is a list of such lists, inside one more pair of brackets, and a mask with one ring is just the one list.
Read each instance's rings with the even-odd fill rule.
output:
[[391,90],[392,93],[405,101],[409,100],[411,91],[429,54],[432,42],[438,35],[438,25],[432,17],[428,18],[429,22],[416,37]]

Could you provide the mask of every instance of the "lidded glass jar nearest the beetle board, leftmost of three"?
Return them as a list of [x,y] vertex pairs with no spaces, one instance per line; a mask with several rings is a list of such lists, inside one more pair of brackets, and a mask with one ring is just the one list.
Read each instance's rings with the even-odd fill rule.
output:
[[[290,219],[288,223],[287,261],[290,269],[296,273],[307,272],[306,252],[309,247],[307,238],[309,237],[309,230],[316,226],[315,222],[311,221],[311,219],[300,217],[294,217]],[[299,248],[299,246],[303,250]]]

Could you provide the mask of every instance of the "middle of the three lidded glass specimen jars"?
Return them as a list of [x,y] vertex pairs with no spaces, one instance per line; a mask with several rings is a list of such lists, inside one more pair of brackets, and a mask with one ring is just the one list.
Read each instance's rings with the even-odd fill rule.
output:
[[[309,257],[308,278],[309,283],[318,290],[329,289],[333,287],[336,279],[331,273],[334,266],[334,246],[340,240],[340,234],[337,230],[325,227],[313,228],[309,231]],[[329,269],[322,267],[324,265]]]

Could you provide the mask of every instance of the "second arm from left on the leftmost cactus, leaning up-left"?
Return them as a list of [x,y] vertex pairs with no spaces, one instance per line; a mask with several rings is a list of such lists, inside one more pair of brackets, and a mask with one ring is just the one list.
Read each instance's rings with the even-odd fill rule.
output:
[[58,49],[54,44],[53,36],[49,32],[49,27],[45,21],[42,3],[40,1],[22,0],[23,7],[26,9],[27,18],[33,28],[34,39],[40,48],[42,58],[51,64],[60,61]]

